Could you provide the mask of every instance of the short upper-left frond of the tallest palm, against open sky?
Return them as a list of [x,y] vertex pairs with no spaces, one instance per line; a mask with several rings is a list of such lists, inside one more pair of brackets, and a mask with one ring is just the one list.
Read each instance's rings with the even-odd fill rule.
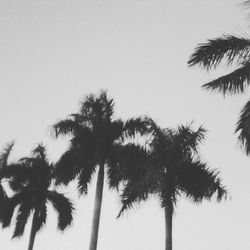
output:
[[58,121],[52,127],[52,133],[55,137],[59,135],[72,135],[80,129],[80,125],[73,119],[65,119]]

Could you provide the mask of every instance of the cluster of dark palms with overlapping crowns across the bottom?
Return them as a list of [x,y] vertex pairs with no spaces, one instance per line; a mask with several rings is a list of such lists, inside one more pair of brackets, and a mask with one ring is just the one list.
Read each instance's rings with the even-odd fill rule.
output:
[[[96,172],[90,250],[97,249],[105,179],[120,195],[118,217],[150,197],[160,200],[165,211],[166,250],[172,250],[172,216],[181,194],[195,203],[214,195],[218,201],[226,197],[218,171],[211,170],[199,154],[206,133],[203,127],[161,128],[146,116],[115,119],[114,100],[101,91],[86,96],[79,111],[56,122],[52,131],[55,137],[70,136],[67,150],[56,163],[49,162],[42,144],[31,156],[10,162],[12,142],[0,156],[0,177],[8,183],[8,187],[0,186],[2,227],[10,225],[18,209],[13,237],[19,237],[32,215],[28,250],[33,249],[36,233],[46,223],[47,202],[58,213],[58,229],[72,223],[73,203],[57,187],[77,180],[78,192],[87,194]],[[147,137],[147,142],[136,143],[141,137]]]

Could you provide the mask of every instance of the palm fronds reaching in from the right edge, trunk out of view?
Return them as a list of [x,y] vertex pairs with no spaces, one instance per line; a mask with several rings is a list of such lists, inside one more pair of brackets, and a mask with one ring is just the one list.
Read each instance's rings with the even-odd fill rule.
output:
[[[249,2],[249,1],[247,1]],[[249,4],[249,3],[248,3]],[[207,71],[217,68],[223,62],[232,71],[216,78],[202,87],[227,94],[243,93],[250,84],[250,39],[234,35],[223,35],[199,44],[191,55],[188,65],[198,65]],[[235,133],[246,154],[250,153],[250,100],[242,108]]]

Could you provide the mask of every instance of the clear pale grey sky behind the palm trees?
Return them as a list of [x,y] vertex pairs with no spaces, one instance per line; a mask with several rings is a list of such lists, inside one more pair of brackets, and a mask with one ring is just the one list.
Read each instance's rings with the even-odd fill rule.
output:
[[[249,250],[250,159],[233,135],[248,94],[224,99],[201,89],[216,74],[189,69],[194,47],[221,34],[248,34],[237,0],[0,0],[0,146],[12,139],[12,159],[44,142],[57,160],[67,139],[54,140],[50,125],[76,112],[81,97],[107,89],[117,117],[152,116],[161,126],[192,120],[209,130],[201,151],[221,172],[230,197],[196,206],[183,197],[173,225],[174,250]],[[249,10],[250,11],[250,10]],[[223,72],[223,69],[221,70]],[[56,230],[50,208],[35,250],[88,249],[93,180],[88,197],[72,184],[74,224]],[[164,215],[150,200],[115,217],[119,201],[105,188],[98,250],[164,249]],[[13,227],[0,231],[1,249],[26,249]]]

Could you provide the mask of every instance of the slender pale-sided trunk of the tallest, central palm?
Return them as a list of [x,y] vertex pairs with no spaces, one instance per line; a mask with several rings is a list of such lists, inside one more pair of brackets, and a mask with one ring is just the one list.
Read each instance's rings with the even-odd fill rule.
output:
[[98,231],[99,231],[101,206],[102,206],[103,180],[104,180],[104,163],[100,164],[99,166],[98,177],[96,182],[94,214],[92,221],[92,231],[91,231],[89,250],[97,249]]

